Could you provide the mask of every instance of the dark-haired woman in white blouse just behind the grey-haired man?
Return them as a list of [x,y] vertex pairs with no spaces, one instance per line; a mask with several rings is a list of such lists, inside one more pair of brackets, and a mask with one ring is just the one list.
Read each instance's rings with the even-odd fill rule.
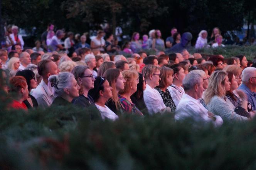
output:
[[184,89],[181,87],[182,86],[182,81],[185,78],[185,71],[182,65],[180,64],[174,64],[171,66],[173,69],[173,80],[172,80],[172,85],[167,87],[169,90],[173,102],[175,103],[175,106],[178,106],[182,95],[185,93]]

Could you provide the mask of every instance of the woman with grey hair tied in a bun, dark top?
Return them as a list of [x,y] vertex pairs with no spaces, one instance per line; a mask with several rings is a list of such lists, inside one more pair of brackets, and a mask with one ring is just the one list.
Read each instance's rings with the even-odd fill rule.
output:
[[52,105],[66,106],[79,96],[80,87],[71,73],[64,72],[59,73],[59,75],[51,75],[48,81],[49,85],[54,88],[54,95],[57,96]]

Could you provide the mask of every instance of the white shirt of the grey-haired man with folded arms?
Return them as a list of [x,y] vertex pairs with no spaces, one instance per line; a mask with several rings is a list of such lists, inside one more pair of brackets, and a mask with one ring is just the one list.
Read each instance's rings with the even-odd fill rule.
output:
[[186,117],[192,117],[195,121],[212,122],[217,126],[223,123],[220,116],[215,116],[216,121],[213,122],[213,120],[208,117],[208,110],[200,103],[200,100],[184,93],[176,108],[174,118],[175,120],[182,120]]

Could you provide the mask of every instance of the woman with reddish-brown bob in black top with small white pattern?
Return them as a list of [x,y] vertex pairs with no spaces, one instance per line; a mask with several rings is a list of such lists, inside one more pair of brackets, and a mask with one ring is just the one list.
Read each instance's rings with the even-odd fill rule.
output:
[[157,86],[155,89],[160,93],[161,97],[163,98],[163,103],[166,107],[170,107],[172,112],[175,111],[176,106],[173,102],[172,96],[167,90],[167,87],[172,85],[173,80],[173,70],[168,67],[162,67],[160,70],[160,82],[159,86]]

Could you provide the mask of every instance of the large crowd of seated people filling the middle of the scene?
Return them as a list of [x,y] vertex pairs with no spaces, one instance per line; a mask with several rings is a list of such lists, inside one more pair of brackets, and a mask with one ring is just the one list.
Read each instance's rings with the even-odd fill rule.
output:
[[[86,36],[76,44],[69,32],[62,46],[64,32],[55,34],[52,27],[49,25],[44,33],[42,47],[22,50],[18,38],[20,42],[10,51],[0,50],[0,90],[11,101],[7,109],[27,112],[74,105],[93,108],[94,114],[85,113],[92,120],[115,121],[124,114],[170,114],[177,121],[192,118],[214,126],[247,121],[256,113],[256,68],[244,55],[190,54],[182,38],[190,34],[179,38],[180,33],[173,28],[166,42],[160,30],[151,32],[150,38],[143,35],[143,41],[135,32],[125,46],[132,54],[127,58],[115,53],[115,38],[108,35],[104,40],[101,30],[90,45]],[[220,30],[214,28],[212,44],[222,46],[220,39]],[[172,52],[175,43],[173,47],[180,50]],[[157,55],[141,50],[151,47]],[[207,32],[203,30],[196,48],[207,47]],[[170,53],[165,53],[165,48]]]

